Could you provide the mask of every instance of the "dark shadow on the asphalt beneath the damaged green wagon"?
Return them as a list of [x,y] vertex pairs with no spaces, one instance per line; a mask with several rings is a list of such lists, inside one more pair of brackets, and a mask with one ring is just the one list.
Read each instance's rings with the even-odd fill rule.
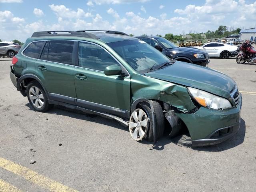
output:
[[[34,111],[34,109],[31,107],[30,103],[27,103],[26,106],[28,108],[30,108],[30,110]],[[103,124],[106,126],[112,126],[114,128],[118,128],[121,130],[129,131],[128,127],[122,126],[120,123],[116,122],[115,120],[108,120],[108,119],[103,118],[98,115],[87,114],[87,113],[84,113],[79,110],[72,110],[72,109],[66,108],[64,106],[54,106],[53,109],[51,109],[45,113],[46,114],[56,114],[56,115],[61,115],[61,116],[69,116],[71,118],[95,122],[95,123]],[[206,151],[206,152],[220,152],[220,151],[234,148],[244,142],[245,130],[246,130],[246,124],[245,124],[245,121],[241,118],[240,129],[238,130],[237,134],[235,136],[233,136],[232,138],[230,138],[220,144],[213,145],[213,146],[201,146],[201,147],[196,147],[196,148],[192,148],[192,149],[198,150],[198,151]],[[155,145],[153,145],[153,142],[149,142],[146,140],[142,140],[139,142],[141,144],[145,144],[148,146],[152,145],[152,147],[149,150],[160,150],[161,151],[161,150],[164,150],[165,145],[172,143],[172,139],[170,139],[168,137],[167,133],[164,133],[164,136],[162,138],[160,138],[159,140],[157,140],[157,143]],[[178,146],[178,145],[176,145],[176,146],[184,147],[184,146]]]

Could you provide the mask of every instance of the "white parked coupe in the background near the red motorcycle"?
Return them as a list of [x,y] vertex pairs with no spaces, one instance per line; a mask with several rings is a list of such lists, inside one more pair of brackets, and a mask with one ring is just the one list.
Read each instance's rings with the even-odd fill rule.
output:
[[195,48],[205,51],[210,57],[221,57],[222,59],[234,57],[238,54],[237,46],[220,42],[210,42]]

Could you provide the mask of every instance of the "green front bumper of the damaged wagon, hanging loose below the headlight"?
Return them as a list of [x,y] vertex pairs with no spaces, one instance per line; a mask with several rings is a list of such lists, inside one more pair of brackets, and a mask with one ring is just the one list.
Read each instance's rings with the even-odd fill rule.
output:
[[242,94],[237,106],[225,110],[201,107],[193,114],[176,114],[186,124],[190,138],[180,139],[184,146],[214,145],[234,136],[240,128]]

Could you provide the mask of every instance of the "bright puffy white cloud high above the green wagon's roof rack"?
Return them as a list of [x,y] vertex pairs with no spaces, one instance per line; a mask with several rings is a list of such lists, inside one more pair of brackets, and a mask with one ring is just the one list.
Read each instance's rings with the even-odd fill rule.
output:
[[84,10],[78,8],[77,11],[70,10],[69,8],[66,8],[64,5],[49,5],[51,10],[54,11],[54,13],[58,17],[62,18],[83,18],[83,17],[92,17],[92,14],[90,12],[84,12]]

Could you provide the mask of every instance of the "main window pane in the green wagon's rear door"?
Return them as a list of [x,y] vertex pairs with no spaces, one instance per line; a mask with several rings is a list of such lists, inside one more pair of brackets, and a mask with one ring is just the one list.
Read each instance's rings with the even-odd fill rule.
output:
[[72,65],[74,41],[50,41],[48,61]]

